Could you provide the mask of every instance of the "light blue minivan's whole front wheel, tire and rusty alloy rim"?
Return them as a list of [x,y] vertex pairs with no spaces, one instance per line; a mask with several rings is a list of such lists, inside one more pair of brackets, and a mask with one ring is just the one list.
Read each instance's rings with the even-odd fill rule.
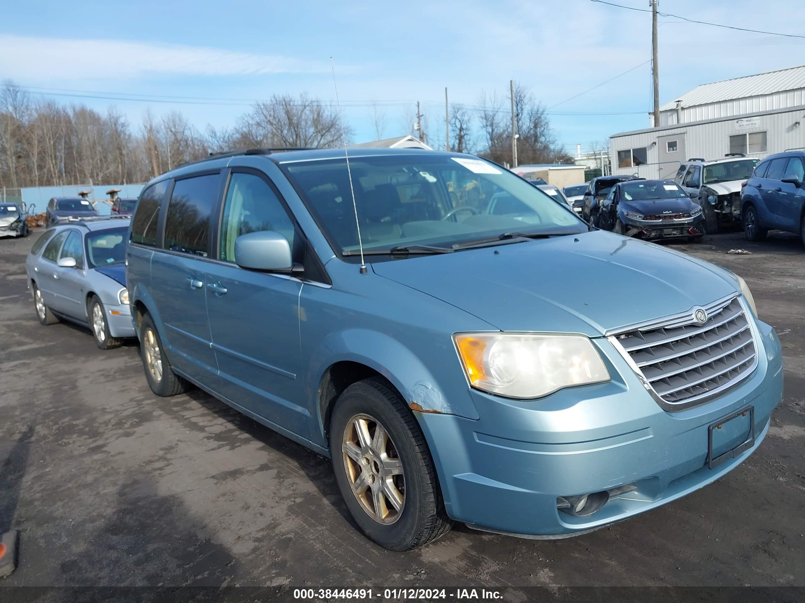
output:
[[341,496],[369,539],[408,551],[450,530],[422,429],[386,379],[358,381],[338,397],[330,451]]

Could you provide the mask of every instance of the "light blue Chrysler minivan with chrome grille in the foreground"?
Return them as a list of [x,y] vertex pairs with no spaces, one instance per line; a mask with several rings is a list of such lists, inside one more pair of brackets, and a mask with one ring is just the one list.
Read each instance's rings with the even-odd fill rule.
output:
[[182,166],[142,192],[127,279],[151,389],[194,384],[332,458],[395,551],[669,503],[753,453],[782,396],[741,277],[464,154]]

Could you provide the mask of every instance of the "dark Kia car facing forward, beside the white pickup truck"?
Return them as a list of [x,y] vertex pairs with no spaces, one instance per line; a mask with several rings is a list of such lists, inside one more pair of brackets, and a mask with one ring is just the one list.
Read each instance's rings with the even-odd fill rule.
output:
[[704,215],[672,180],[617,183],[601,201],[595,225],[645,240],[701,240]]

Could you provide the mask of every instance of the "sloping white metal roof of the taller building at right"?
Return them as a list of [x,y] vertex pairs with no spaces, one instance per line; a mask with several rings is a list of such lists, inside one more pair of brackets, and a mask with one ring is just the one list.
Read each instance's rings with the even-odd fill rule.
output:
[[[805,65],[790,69],[780,69],[775,72],[758,73],[756,76],[737,77],[733,80],[703,84],[675,100],[682,100],[683,107],[694,107],[696,105],[712,105],[722,100],[773,95],[798,88],[805,88]],[[663,111],[675,109],[675,100],[663,105],[660,109]],[[764,109],[755,110],[762,111]]]

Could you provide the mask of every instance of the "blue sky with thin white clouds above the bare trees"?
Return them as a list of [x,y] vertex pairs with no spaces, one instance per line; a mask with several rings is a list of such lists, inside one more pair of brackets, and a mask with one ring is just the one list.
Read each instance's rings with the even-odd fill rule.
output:
[[[648,0],[614,1],[649,7]],[[801,0],[660,4],[688,18],[795,34],[803,33],[801,9]],[[476,105],[481,91],[506,96],[514,79],[550,108],[559,142],[575,153],[576,143],[588,147],[648,125],[649,64],[563,101],[650,59],[650,39],[650,14],[589,0],[14,2],[0,23],[0,79],[43,93],[239,99],[55,96],[101,110],[115,105],[135,127],[149,106],[157,115],[180,109],[204,129],[232,125],[250,99],[275,92],[334,100],[332,55],[356,142],[375,137],[370,101],[378,101],[382,134],[391,137],[410,131],[420,100],[426,132],[444,144],[445,86],[452,102]],[[805,63],[803,39],[671,18],[660,18],[659,39],[661,103],[698,84]]]

